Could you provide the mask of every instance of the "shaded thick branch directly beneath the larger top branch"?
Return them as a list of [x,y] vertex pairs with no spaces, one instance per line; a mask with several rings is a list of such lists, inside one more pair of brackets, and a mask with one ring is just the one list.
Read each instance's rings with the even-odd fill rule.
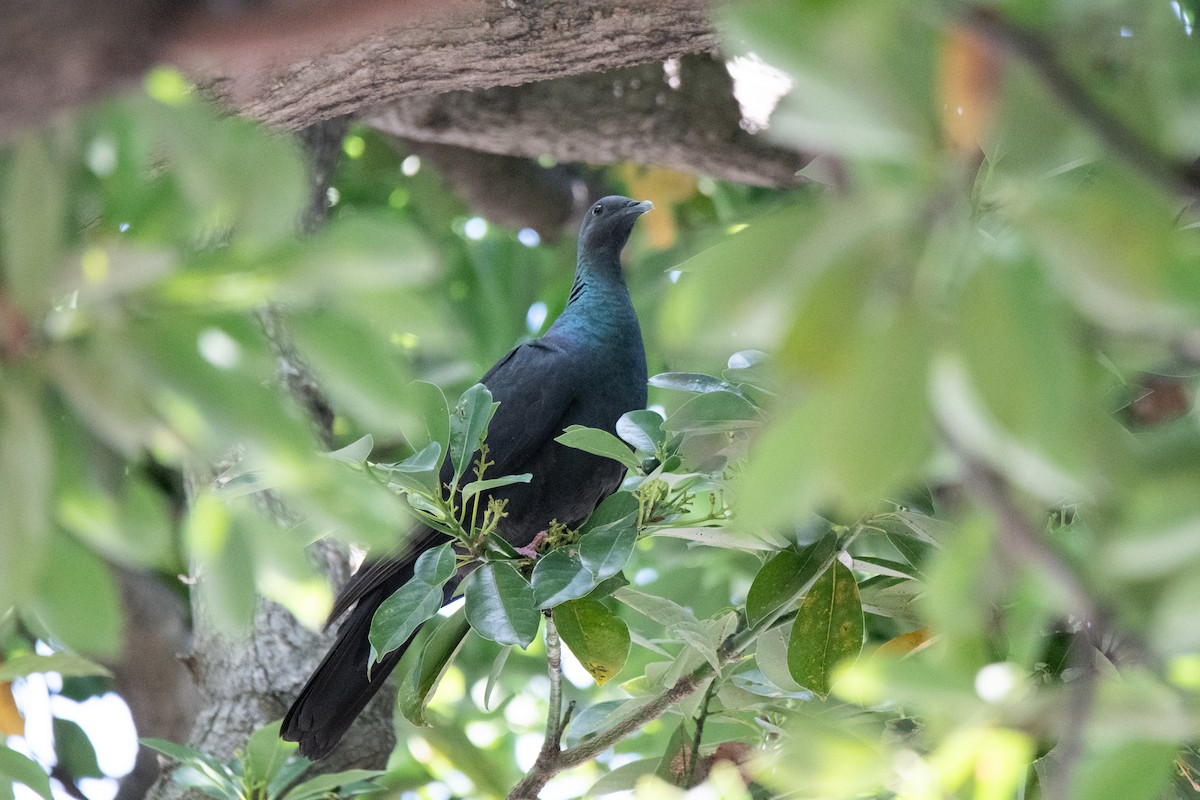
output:
[[659,164],[757,186],[794,186],[809,158],[742,127],[720,59],[680,59],[486,91],[412,96],[364,113],[389,133],[559,162]]

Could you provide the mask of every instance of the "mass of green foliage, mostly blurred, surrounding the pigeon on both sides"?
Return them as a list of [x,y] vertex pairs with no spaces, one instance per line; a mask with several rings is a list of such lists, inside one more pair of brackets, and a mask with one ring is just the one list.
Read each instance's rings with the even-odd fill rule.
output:
[[[696,682],[554,796],[676,796],[710,766],[728,798],[1195,796],[1196,11],[721,8],[728,53],[793,83],[763,136],[833,179],[672,179],[655,213],[673,228],[635,236],[628,267],[655,411],[616,432],[632,450],[565,434],[629,479],[587,546],[532,567],[500,553],[420,633],[382,780],[437,796],[520,780],[553,606],[583,662],[565,747]],[[170,73],[0,154],[0,680],[103,672],[110,565],[196,575],[233,628],[256,593],[316,624],[329,596],[305,545],[386,546],[437,511],[414,465],[479,433],[452,429],[443,391],[553,319],[574,245],[468,235],[413,156],[359,130],[344,150],[329,225],[302,240],[294,146]],[[335,458],[275,375],[265,303],[329,392]],[[212,464],[228,470],[181,512],[180,471]],[[298,524],[259,513],[268,486]],[[377,619],[380,651],[433,614],[428,567]],[[59,739],[92,771],[85,739]],[[46,790],[14,750],[0,774]]]

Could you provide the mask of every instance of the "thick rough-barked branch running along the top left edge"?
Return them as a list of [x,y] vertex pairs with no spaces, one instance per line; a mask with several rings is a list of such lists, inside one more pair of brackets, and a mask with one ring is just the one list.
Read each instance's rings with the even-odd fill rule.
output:
[[414,94],[517,85],[715,44],[708,0],[0,4],[0,137],[170,62],[302,128]]

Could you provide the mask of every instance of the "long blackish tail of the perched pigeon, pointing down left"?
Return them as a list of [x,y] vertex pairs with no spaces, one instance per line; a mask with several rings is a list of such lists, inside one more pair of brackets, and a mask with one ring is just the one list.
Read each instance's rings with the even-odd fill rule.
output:
[[371,668],[371,618],[379,604],[396,587],[382,585],[359,600],[354,610],[337,631],[337,640],[325,654],[312,678],[300,690],[300,696],[283,717],[281,734],[288,741],[300,742],[300,752],[308,758],[323,758],[341,741],[350,723],[358,718],[384,680],[395,669],[400,657],[413,642],[384,656]]

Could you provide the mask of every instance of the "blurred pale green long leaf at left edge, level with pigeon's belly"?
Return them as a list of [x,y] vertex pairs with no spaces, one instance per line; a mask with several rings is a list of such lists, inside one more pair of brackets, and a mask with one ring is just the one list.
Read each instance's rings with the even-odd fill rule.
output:
[[5,374],[0,392],[0,608],[36,587],[49,545],[54,451],[37,395]]

